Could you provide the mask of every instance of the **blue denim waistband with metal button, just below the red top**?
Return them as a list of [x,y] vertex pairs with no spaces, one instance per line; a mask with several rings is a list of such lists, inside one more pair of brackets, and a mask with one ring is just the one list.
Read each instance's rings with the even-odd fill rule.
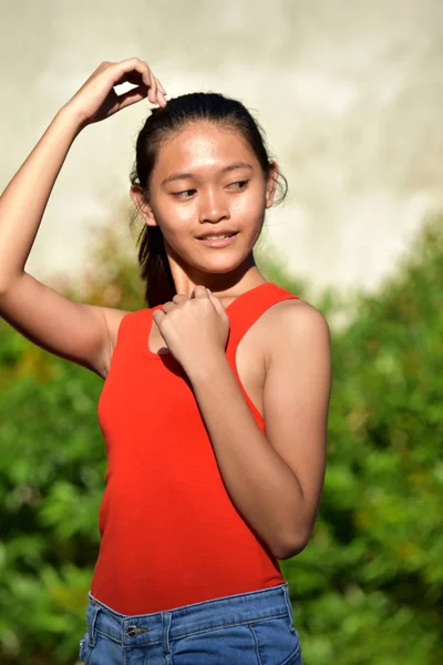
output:
[[126,615],[115,612],[95,598],[91,592],[86,610],[90,645],[96,634],[122,644],[122,646],[147,646],[165,640],[253,623],[262,618],[287,616],[292,622],[292,608],[288,582],[250,591],[183,605],[151,614]]

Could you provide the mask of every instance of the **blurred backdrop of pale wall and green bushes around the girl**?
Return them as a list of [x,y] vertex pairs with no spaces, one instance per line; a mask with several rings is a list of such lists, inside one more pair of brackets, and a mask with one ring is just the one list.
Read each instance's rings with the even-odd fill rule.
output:
[[[442,2],[3,0],[0,53],[1,191],[103,60],[138,57],[169,99],[222,92],[259,121],[289,194],[257,263],[332,332],[323,499],[310,544],[281,562],[303,659],[440,664]],[[86,127],[51,195],[27,270],[75,300],[144,306],[128,175],[150,109]],[[102,385],[0,318],[1,664],[76,662]]]

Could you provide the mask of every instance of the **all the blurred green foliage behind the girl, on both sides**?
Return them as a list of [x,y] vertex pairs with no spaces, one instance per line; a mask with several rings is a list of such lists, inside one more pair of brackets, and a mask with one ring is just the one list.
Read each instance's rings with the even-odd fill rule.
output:
[[[268,279],[330,321],[333,388],[323,499],[308,548],[281,566],[307,665],[436,665],[443,653],[443,233],[374,295],[316,301],[278,260]],[[106,235],[79,296],[144,307],[136,262]],[[261,265],[262,264],[262,265]],[[348,324],[332,326],[337,316]],[[0,662],[73,663],[97,550],[102,380],[0,319]]]

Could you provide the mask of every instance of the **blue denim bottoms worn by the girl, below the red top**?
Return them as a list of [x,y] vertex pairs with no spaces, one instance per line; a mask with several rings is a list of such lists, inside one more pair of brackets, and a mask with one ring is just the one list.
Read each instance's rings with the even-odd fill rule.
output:
[[302,665],[288,582],[131,616],[87,595],[85,665]]

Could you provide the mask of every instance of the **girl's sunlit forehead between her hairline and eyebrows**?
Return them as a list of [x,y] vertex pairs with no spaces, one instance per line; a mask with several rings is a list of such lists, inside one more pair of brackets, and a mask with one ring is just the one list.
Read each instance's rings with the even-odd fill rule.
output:
[[155,171],[162,176],[177,167],[194,171],[222,168],[237,161],[258,164],[254,151],[238,131],[202,121],[189,123],[162,144]]

